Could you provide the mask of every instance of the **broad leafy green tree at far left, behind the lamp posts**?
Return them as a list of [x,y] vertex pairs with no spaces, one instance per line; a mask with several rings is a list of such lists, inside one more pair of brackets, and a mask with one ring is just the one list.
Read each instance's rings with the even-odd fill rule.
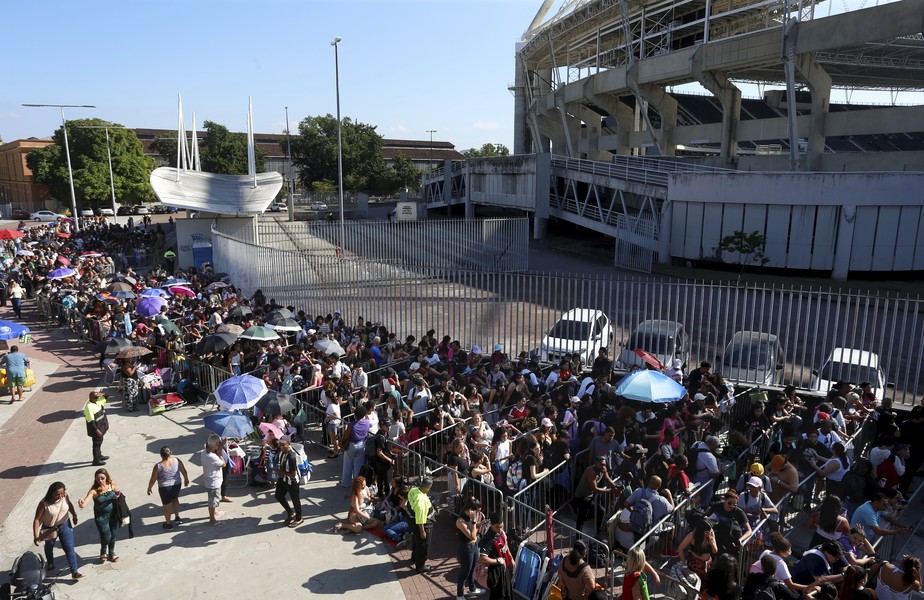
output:
[[[154,197],[150,176],[156,164],[144,155],[138,136],[131,129],[102,119],[77,119],[67,122],[67,139],[74,173],[74,195],[81,205],[108,205],[111,201],[109,162],[106,156],[106,132],[81,127],[111,126],[109,146],[112,153],[112,179],[116,198],[125,204],[137,204]],[[33,150],[26,157],[37,183],[48,186],[61,203],[70,200],[67,158],[64,156],[64,130],[59,127],[53,144]]]

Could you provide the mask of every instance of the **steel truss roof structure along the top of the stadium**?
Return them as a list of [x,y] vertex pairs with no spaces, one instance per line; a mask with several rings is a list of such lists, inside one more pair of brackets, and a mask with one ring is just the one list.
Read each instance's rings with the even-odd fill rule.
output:
[[[533,22],[523,34],[518,60],[530,70],[604,70],[630,64],[631,59],[775,30],[775,47],[755,53],[753,61],[728,68],[725,74],[738,81],[779,84],[785,82],[780,29],[787,18],[798,16],[798,52],[815,52],[815,60],[834,86],[924,89],[924,3],[878,3],[830,17],[822,14],[827,13],[826,6],[810,0],[804,4],[779,0],[571,0],[545,22]],[[708,27],[707,10],[711,13]],[[540,11],[537,20],[542,16]],[[691,81],[690,76],[680,76],[665,83]]]

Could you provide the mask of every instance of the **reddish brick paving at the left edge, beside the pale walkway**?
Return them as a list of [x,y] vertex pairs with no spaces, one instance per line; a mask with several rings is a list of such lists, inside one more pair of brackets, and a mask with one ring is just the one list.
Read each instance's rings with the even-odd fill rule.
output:
[[[23,309],[24,318],[17,322],[29,326],[33,341],[22,345],[20,350],[33,360],[53,363],[57,367],[40,388],[26,392],[23,401],[15,403],[15,412],[0,425],[0,485],[3,487],[0,524],[6,523],[43,468],[66,467],[61,463],[46,463],[67,428],[81,418],[87,394],[100,379],[98,359],[91,355],[87,344],[56,332],[38,314],[34,303],[26,301]],[[11,309],[0,309],[0,312],[6,313],[2,318],[15,320]],[[9,404],[10,400],[3,396],[3,402]],[[89,441],[86,457],[75,459],[90,462]]]

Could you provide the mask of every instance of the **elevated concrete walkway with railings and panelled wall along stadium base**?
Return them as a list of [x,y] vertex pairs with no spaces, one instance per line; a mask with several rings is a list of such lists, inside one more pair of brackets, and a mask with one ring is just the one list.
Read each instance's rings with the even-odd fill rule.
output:
[[924,173],[743,172],[676,158],[525,154],[446,161],[423,182],[428,209],[463,205],[468,218],[479,206],[523,211],[537,238],[549,218],[568,221],[614,238],[615,264],[634,270],[650,271],[654,260],[737,264],[741,257],[718,250],[737,231],[767,237],[769,267],[836,279],[924,270]]

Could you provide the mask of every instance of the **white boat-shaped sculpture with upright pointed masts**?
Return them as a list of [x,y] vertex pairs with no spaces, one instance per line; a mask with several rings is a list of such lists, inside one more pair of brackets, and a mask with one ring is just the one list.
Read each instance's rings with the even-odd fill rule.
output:
[[253,139],[253,103],[247,106],[247,175],[206,173],[199,162],[196,116],[192,123],[192,156],[186,145],[183,99],[178,97],[177,167],[160,167],[151,173],[151,187],[162,204],[209,213],[260,214],[282,189],[282,175],[257,173]]

